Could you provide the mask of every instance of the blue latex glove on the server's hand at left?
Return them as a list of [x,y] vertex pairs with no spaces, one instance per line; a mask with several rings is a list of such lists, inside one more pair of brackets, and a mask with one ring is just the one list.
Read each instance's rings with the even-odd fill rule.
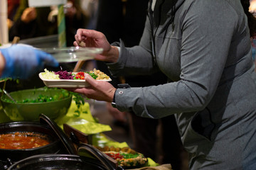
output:
[[6,60],[1,78],[28,79],[45,65],[58,67],[53,56],[29,45],[12,45],[0,51]]

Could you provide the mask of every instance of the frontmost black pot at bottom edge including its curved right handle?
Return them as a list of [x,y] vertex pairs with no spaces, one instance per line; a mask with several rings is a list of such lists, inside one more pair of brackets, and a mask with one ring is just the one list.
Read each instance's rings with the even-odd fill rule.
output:
[[102,152],[87,144],[82,144],[79,147],[78,155],[38,154],[12,164],[8,170],[14,169],[124,170]]

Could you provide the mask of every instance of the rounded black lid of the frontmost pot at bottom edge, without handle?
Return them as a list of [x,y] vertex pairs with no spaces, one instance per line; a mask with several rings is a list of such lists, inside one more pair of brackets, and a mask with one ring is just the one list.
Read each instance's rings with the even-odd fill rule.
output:
[[97,159],[73,154],[39,154],[23,159],[9,166],[8,170],[75,169],[108,170]]

